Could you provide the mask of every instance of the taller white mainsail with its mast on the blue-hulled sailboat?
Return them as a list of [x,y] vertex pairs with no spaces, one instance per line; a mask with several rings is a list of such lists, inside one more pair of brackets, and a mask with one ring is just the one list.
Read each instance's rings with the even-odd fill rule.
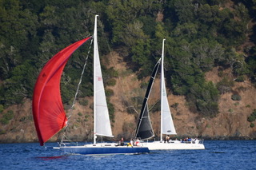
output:
[[98,15],[95,16],[94,25],[94,144],[96,144],[97,135],[113,137],[98,55],[97,17]]

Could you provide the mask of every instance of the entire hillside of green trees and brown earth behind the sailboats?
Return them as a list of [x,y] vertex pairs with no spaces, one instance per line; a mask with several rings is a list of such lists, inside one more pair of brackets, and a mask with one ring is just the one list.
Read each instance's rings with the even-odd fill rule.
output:
[[[38,73],[60,49],[93,33],[95,14],[114,140],[134,136],[150,73],[162,53],[162,39],[166,39],[166,87],[178,132],[173,137],[256,139],[255,6],[254,1],[241,0],[3,0],[0,142],[38,140],[31,113]],[[61,81],[62,103],[70,115],[83,63],[89,57],[66,128],[66,136],[78,141],[93,137],[89,46],[86,42],[70,57]],[[149,107],[158,138],[159,76]],[[59,132],[51,140],[61,137]]]

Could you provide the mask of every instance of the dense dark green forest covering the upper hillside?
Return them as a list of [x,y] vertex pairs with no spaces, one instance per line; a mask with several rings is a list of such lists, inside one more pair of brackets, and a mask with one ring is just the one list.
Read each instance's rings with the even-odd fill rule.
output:
[[[0,113],[32,97],[46,61],[89,37],[95,14],[102,55],[118,50],[139,79],[150,75],[166,38],[167,86],[186,96],[190,110],[203,117],[218,114],[219,95],[230,92],[234,81],[247,78],[256,85],[255,0],[0,0]],[[74,100],[89,45],[74,53],[62,75],[67,105]],[[216,66],[230,68],[234,79],[219,75],[217,85],[206,81],[204,74]],[[118,73],[103,69],[106,85],[114,85]],[[90,70],[83,80],[90,84],[82,86],[79,97],[92,95]],[[232,97],[239,100],[238,94]]]

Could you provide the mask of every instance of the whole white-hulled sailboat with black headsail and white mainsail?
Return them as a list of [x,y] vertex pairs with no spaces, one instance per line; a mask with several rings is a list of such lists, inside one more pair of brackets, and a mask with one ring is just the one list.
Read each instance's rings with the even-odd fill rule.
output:
[[[170,150],[170,149],[205,149],[205,146],[202,144],[202,140],[197,140],[194,143],[191,141],[190,143],[183,143],[182,141],[179,140],[165,140],[165,142],[162,141],[162,134],[166,135],[176,135],[176,130],[174,128],[174,122],[171,117],[170,113],[170,107],[168,103],[168,98],[167,98],[167,93],[166,93],[166,83],[165,83],[165,76],[164,76],[164,43],[165,39],[162,41],[162,57],[159,59],[157,65],[154,67],[154,71],[151,75],[150,82],[148,85],[148,89],[146,90],[146,95],[145,99],[143,101],[142,105],[142,112],[140,114],[140,120],[142,120],[143,113],[148,114],[147,109],[147,100],[150,96],[150,89],[154,83],[154,78],[155,78],[155,73],[158,71],[158,66],[160,65],[161,61],[161,89],[160,89],[160,95],[161,95],[161,134],[160,134],[160,141],[154,141],[154,142],[143,142],[143,146],[148,147],[150,150]],[[144,112],[144,111],[147,112]],[[148,119],[150,121],[150,119]],[[147,127],[144,128],[144,127]],[[152,127],[149,125],[146,125],[145,122],[143,121],[138,121],[138,126],[136,130],[136,136],[137,138],[140,138],[142,140],[148,139],[151,136],[148,135],[150,134],[150,129]],[[146,130],[145,130],[146,129]],[[154,133],[152,133],[154,134]]]

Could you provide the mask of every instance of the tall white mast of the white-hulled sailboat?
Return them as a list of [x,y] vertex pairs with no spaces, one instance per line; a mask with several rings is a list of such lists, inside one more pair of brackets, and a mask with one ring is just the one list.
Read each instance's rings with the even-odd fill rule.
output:
[[166,41],[166,39],[163,39],[162,40],[162,63],[161,63],[161,125],[160,125],[160,127],[161,127],[161,132],[160,132],[160,139],[161,139],[161,141],[162,141],[162,119],[163,119],[163,117],[162,117],[162,90],[163,90],[163,83],[162,82],[164,82],[165,81],[165,77],[164,77],[164,70],[163,70],[163,59],[164,59],[164,46],[165,46],[165,41]]

